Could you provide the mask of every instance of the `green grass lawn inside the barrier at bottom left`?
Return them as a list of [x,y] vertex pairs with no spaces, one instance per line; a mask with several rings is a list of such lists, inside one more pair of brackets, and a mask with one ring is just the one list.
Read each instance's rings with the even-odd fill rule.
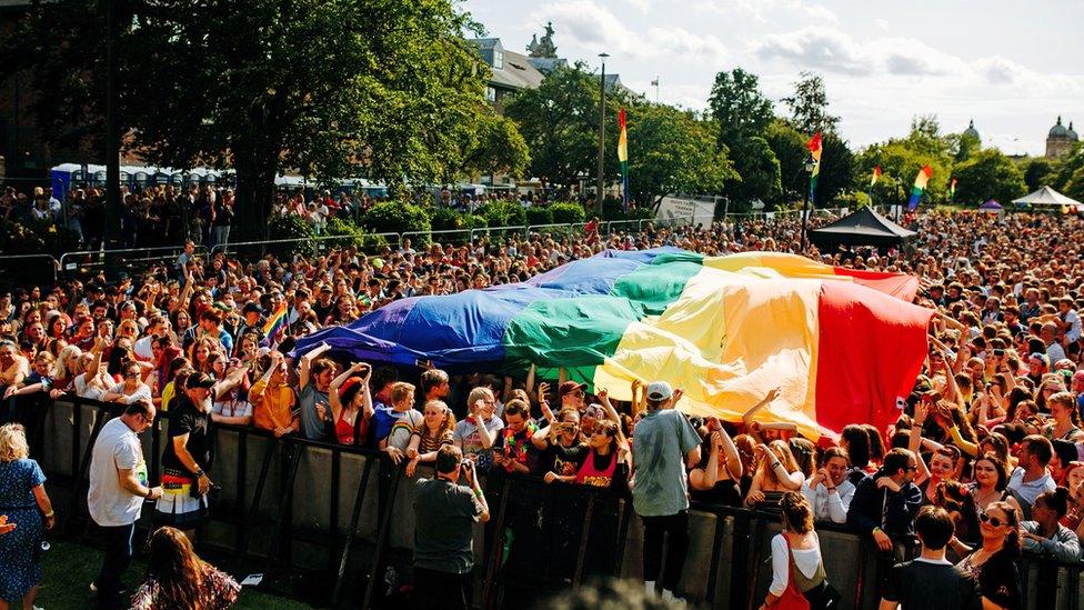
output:
[[[52,548],[42,554],[42,582],[36,606],[46,610],[92,608],[93,593],[88,586],[98,576],[102,553],[93,547],[69,541],[53,540]],[[134,588],[147,573],[147,563],[137,557],[124,574],[124,583]],[[19,608],[19,606],[12,606]],[[308,606],[253,591],[245,587],[234,608],[294,609]]]

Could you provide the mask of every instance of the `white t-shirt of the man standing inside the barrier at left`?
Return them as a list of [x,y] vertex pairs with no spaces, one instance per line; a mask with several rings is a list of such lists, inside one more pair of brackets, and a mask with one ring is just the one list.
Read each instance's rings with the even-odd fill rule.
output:
[[102,427],[94,442],[87,493],[90,517],[106,528],[134,523],[143,506],[142,498],[121,487],[118,470],[134,470],[136,478],[147,484],[147,463],[139,437],[122,419],[114,418]]

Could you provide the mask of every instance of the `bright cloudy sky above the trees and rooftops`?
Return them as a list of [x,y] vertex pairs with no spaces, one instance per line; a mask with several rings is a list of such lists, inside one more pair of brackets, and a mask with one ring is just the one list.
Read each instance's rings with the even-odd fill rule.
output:
[[1084,132],[1082,0],[464,0],[506,49],[553,22],[558,56],[659,100],[702,110],[715,74],[742,67],[776,101],[800,72],[824,78],[852,147],[905,136],[936,114],[975,121],[983,144],[1043,154],[1058,116]]

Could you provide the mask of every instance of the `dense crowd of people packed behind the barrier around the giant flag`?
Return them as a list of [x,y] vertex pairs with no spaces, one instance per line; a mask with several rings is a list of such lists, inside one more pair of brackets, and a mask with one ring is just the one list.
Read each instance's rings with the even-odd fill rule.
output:
[[[126,413],[111,434],[103,431],[112,444],[91,468],[91,516],[111,532],[96,580],[102,594],[120,590],[133,514],[144,498],[155,501],[157,523],[189,537],[208,518],[215,486],[210,434],[233,424],[378,449],[411,476],[420,464],[434,466],[436,478],[425,479],[430,487],[419,494],[466,523],[488,518],[478,486],[488,473],[631,493],[645,530],[644,579],[666,599],[679,594],[691,499],[782,514],[766,607],[794,591],[817,604],[831,600],[813,527],[826,521],[869,537],[883,553],[879,587],[887,608],[952,607],[929,593],[929,582],[955,587],[960,607],[982,600],[986,608],[1017,608],[1021,553],[1081,559],[1084,250],[1072,236],[1084,223],[1024,213],[929,213],[905,222],[919,239],[903,250],[804,252],[833,264],[916,274],[916,302],[937,311],[929,358],[900,419],[886,430],[854,422],[832,447],[757,421],[775,392],[731,422],[680,414],[670,407],[681,389],[651,379],[634,383],[632,402],[620,402],[604,388],[563,376],[535,379],[533,370],[525,379],[481,370],[418,373],[353,362],[325,346],[295,361],[285,356],[300,337],[349,324],[393,300],[522,281],[606,248],[802,252],[796,220],[612,234],[589,228],[580,237],[416,249],[404,241],[375,254],[345,248],[293,260],[200,260],[190,241],[175,261],[136,278],[99,276],[0,294],[0,423],[26,430],[0,433],[7,439],[0,507],[11,507],[7,522],[17,526],[0,537],[0,558],[50,526],[44,477],[28,456],[48,442],[41,404],[73,394],[121,403]],[[269,323],[283,310],[281,323]],[[162,411],[171,418],[163,474],[160,487],[148,487],[132,439]],[[10,440],[19,434],[29,439],[26,449]],[[418,567],[432,577],[421,586],[436,588],[423,593],[451,599],[448,590],[468,586],[470,537],[434,533],[441,512],[423,517],[421,503],[418,511]],[[892,568],[915,534],[920,559]],[[946,557],[956,562],[951,573],[937,571]],[[0,562],[0,598],[32,591],[40,581],[34,562],[31,554]]]

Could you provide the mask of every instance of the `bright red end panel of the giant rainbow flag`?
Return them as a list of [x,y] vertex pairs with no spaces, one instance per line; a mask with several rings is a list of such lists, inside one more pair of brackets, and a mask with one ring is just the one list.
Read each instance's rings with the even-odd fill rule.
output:
[[[926,357],[933,312],[849,282],[821,284],[816,421],[840,432],[849,423],[877,430],[896,420]],[[865,330],[872,332],[865,332]]]

